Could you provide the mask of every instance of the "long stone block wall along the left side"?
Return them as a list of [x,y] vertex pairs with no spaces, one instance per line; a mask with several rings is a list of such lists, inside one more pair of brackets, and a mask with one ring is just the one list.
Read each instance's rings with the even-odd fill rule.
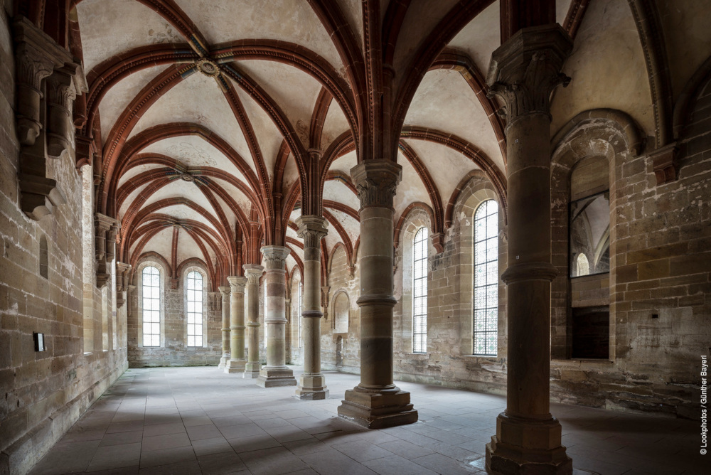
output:
[[[126,346],[116,324],[124,309],[117,313],[115,287],[106,289],[102,309],[95,280],[84,282],[82,180],[73,144],[60,159],[48,160],[46,171],[67,203],[50,205],[51,214],[40,220],[21,211],[9,11],[1,17],[0,473],[23,474],[123,373]],[[44,240],[46,267],[40,262]],[[85,322],[94,324],[87,329],[94,347],[87,353]],[[46,351],[35,351],[34,332],[44,333]]]

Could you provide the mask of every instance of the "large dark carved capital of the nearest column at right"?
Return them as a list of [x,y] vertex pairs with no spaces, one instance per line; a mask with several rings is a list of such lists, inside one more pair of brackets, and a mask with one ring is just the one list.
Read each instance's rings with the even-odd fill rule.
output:
[[572,50],[570,36],[557,23],[517,31],[491,53],[488,96],[506,103],[507,128],[526,114],[549,114],[550,93],[570,82],[560,70]]

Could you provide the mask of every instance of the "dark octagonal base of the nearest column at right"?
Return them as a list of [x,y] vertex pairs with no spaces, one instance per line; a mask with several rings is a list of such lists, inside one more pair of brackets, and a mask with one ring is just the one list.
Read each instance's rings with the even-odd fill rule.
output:
[[506,475],[570,475],[573,462],[560,437],[555,417],[538,420],[502,413],[496,418],[496,435],[486,444],[486,469]]

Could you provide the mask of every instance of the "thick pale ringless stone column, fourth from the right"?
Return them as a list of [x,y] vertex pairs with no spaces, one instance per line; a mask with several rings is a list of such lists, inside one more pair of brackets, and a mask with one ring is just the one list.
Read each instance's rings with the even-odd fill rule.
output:
[[294,371],[287,366],[287,270],[284,264],[289,249],[282,246],[262,247],[267,264],[267,296],[264,301],[264,325],[267,331],[267,365],[260,370],[257,385],[262,388],[296,385]]

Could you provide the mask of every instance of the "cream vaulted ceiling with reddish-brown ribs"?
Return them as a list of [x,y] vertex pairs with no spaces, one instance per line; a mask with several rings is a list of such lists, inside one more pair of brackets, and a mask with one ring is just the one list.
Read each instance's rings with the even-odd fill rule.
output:
[[[483,79],[501,44],[500,6],[461,3],[381,1],[377,19],[383,61],[404,91],[395,219],[422,206],[434,233],[446,232],[448,205],[470,174],[481,171],[506,197],[505,122]],[[557,1],[557,21],[575,42],[564,69],[572,82],[552,101],[552,134],[593,108],[624,110],[658,134],[648,45],[633,15],[640,3]],[[711,16],[711,1],[698,3],[659,2],[674,97],[711,50],[710,18],[700,18]],[[265,235],[281,235],[293,269],[303,257],[294,220],[309,154],[320,160],[330,223],[324,267],[336,246],[353,259],[360,228],[350,170],[364,113],[354,71],[368,56],[367,13],[359,0],[76,1],[72,50],[90,85],[80,135],[97,150],[96,208],[121,225],[119,260],[154,253],[174,274],[200,260],[216,287],[258,259],[250,252]],[[690,42],[697,48],[677,53]],[[430,47],[436,59],[421,64]]]

